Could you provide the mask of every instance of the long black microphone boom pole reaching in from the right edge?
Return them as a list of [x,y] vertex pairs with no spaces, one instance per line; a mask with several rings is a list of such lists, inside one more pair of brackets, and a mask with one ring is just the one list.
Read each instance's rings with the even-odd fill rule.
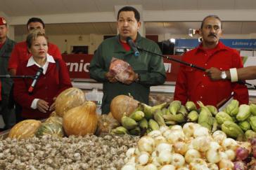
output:
[[[150,53],[151,55],[158,55],[158,56],[160,56],[160,57],[164,57],[164,58],[169,59],[169,60],[174,61],[174,62],[179,62],[180,64],[184,64],[184,65],[186,65],[186,66],[190,66],[190,67],[195,68],[195,69],[198,69],[198,70],[200,70],[200,71],[205,71],[205,70],[206,70],[205,68],[200,67],[200,66],[196,66],[195,64],[191,64],[191,63],[188,63],[188,62],[184,62],[184,61],[181,61],[181,60],[179,60],[179,59],[174,59],[174,58],[169,57],[169,56],[160,55],[160,54],[158,54],[158,53],[145,50],[145,49],[139,47],[138,45],[135,45],[135,46],[136,46],[136,48],[137,48],[138,50],[141,50],[141,51],[144,51],[144,52],[148,52],[148,53]],[[238,80],[237,83],[243,84],[243,85],[248,85],[248,87],[250,87],[250,88],[252,88],[252,89],[256,89],[256,85],[252,85],[252,84],[250,84],[250,83],[246,83],[245,81]]]

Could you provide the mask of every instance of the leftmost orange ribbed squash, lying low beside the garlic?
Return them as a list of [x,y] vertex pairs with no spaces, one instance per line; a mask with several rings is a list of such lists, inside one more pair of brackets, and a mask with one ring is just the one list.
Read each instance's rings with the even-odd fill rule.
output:
[[12,139],[28,139],[34,136],[40,125],[41,122],[39,120],[23,120],[11,128],[8,137]]

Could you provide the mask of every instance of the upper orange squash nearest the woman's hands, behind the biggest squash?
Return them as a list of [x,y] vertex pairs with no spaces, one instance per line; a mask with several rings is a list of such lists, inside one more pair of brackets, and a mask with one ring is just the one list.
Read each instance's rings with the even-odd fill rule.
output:
[[86,101],[84,92],[79,88],[70,87],[61,92],[56,98],[55,111],[57,115],[63,117],[70,108],[80,106],[84,104],[84,101]]

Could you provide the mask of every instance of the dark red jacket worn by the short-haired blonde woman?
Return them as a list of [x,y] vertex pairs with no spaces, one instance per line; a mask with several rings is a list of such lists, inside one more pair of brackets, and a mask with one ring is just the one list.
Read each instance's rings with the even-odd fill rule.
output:
[[[38,109],[32,109],[31,104],[34,99],[43,99],[53,104],[53,97],[58,96],[63,90],[72,87],[67,66],[62,59],[58,59],[59,66],[56,63],[49,62],[46,74],[39,76],[33,93],[28,93],[28,88],[32,84],[32,78],[14,78],[13,96],[15,101],[23,107],[22,117],[32,119],[48,118],[50,112],[42,113]],[[27,66],[27,61],[19,64],[17,75],[35,75],[39,67],[36,65]]]

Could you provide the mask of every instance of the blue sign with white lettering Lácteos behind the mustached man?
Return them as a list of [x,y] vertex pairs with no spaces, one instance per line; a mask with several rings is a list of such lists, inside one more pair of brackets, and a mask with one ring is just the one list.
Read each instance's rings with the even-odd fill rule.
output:
[[[256,49],[256,39],[221,39],[220,41],[230,48]],[[175,48],[196,48],[199,43],[198,39],[177,39]]]

